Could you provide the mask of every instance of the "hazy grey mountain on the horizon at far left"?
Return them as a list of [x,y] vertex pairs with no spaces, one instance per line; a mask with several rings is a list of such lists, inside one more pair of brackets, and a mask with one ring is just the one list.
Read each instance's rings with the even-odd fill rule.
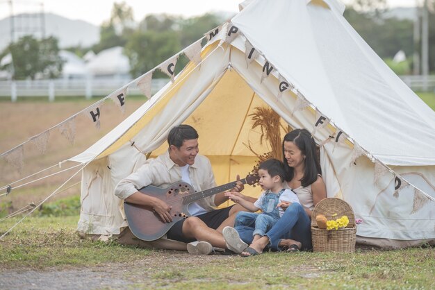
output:
[[[19,19],[22,22],[24,17],[19,16]],[[91,46],[99,42],[99,27],[83,20],[72,20],[60,15],[45,13],[45,35],[57,37],[61,49],[79,44]],[[0,20],[0,51],[8,46],[9,42],[10,17],[6,17]]]

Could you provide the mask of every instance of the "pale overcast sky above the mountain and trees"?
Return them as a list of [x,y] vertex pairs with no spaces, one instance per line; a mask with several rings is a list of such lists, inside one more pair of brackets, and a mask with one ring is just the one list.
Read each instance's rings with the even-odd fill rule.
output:
[[[38,12],[44,3],[44,11],[52,12],[70,19],[81,19],[100,25],[110,17],[114,2],[122,0],[13,0],[14,14],[19,12]],[[151,13],[167,13],[175,15],[202,15],[205,12],[228,11],[238,12],[238,3],[242,0],[126,0],[133,8],[137,21]],[[352,0],[342,0],[348,3]],[[415,6],[416,0],[387,0],[390,7]],[[0,19],[10,13],[9,1],[0,0]],[[35,4],[32,4],[35,3]]]

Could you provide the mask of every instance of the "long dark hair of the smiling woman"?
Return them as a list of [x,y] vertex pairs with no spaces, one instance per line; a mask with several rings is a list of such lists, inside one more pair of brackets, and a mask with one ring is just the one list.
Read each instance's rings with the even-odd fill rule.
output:
[[295,129],[284,136],[282,142],[284,169],[286,169],[286,180],[290,181],[293,179],[293,176],[295,176],[295,169],[288,166],[286,154],[284,153],[284,142],[295,143],[297,148],[302,151],[302,155],[305,155],[304,177],[300,181],[303,187],[311,185],[317,180],[318,174],[322,174],[313,137],[311,137],[311,134],[306,129]]

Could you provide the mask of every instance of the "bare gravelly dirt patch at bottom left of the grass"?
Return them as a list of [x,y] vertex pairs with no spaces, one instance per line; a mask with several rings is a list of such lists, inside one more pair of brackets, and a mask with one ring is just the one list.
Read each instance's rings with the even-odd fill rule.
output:
[[2,270],[0,289],[126,289],[135,285],[149,284],[151,277],[160,271],[161,266],[172,265],[184,268],[190,265],[201,266],[217,260],[225,264],[237,255],[190,255],[187,252],[156,250],[143,259],[131,263],[101,264],[92,267],[62,269],[48,268]]

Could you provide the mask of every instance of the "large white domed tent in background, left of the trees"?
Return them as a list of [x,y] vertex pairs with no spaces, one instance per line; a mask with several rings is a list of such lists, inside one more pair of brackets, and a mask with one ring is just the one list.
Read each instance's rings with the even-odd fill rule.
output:
[[130,79],[130,62],[121,46],[105,49],[92,58],[86,68],[93,78]]

